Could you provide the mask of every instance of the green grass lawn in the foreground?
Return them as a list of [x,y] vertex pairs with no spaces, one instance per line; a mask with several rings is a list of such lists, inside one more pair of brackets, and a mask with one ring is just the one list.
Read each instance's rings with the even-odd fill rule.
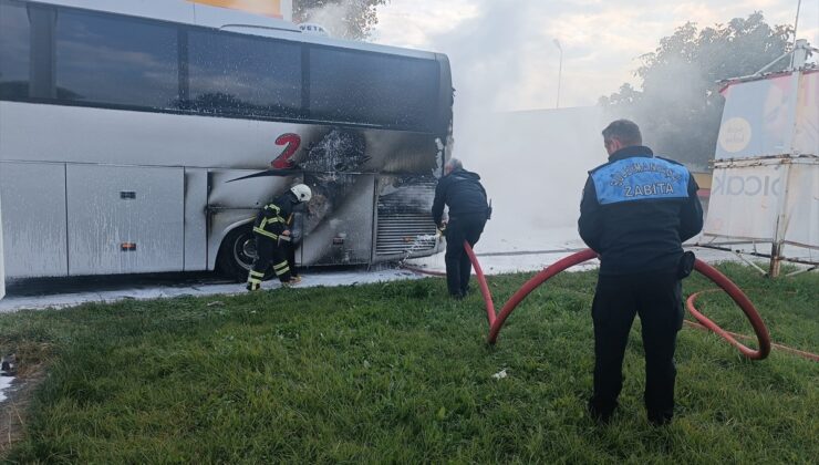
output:
[[[819,352],[819,277],[747,289],[776,342]],[[498,307],[529,277],[490,279]],[[308,278],[309,279],[309,278]],[[677,416],[647,424],[639,323],[609,426],[585,415],[594,272],[533,292],[487,347],[483,301],[439,279],[85,304],[0,317],[0,345],[43,361],[11,462],[810,463],[819,363],[751,362],[684,329]],[[475,283],[473,285],[475,287]],[[686,296],[712,287],[686,280]],[[210,304],[219,301],[221,303]],[[702,310],[751,333],[728,298]],[[506,369],[508,378],[493,374]]]

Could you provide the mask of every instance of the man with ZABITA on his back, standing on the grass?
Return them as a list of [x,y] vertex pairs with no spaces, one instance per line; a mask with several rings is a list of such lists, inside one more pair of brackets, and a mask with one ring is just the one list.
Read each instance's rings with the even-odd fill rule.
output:
[[645,351],[649,421],[665,424],[674,415],[681,278],[693,265],[682,242],[703,227],[697,184],[683,165],[655,157],[643,146],[640,128],[631,121],[611,123],[603,130],[603,144],[609,163],[589,173],[578,221],[580,236],[600,255],[589,411],[608,422],[618,405],[623,354],[636,312]]

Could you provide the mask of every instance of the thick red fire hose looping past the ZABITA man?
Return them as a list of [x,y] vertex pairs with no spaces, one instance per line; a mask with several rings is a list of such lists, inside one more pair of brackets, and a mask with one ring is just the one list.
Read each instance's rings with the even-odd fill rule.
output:
[[[484,294],[484,300],[486,301],[486,314],[487,319],[489,320],[489,335],[487,338],[487,341],[490,344],[494,344],[498,339],[498,333],[500,332],[500,329],[504,327],[504,322],[506,319],[511,314],[511,312],[515,310],[515,308],[531,292],[533,291],[538,286],[542,285],[549,278],[553,277],[554,275],[558,275],[559,272],[566,270],[567,268],[570,268],[574,265],[582,264],[587,260],[590,260],[592,258],[597,257],[597,254],[591,249],[581,250],[577,254],[572,254],[568,257],[564,257],[557,262],[550,265],[549,267],[545,268],[542,271],[538,272],[526,281],[523,286],[518,289],[515,294],[509,299],[509,301],[504,304],[504,308],[500,310],[499,316],[495,316],[495,304],[491,299],[491,293],[489,292],[489,287],[486,282],[486,277],[484,276],[484,271],[480,269],[480,264],[478,264],[478,259],[475,256],[475,252],[473,251],[471,247],[469,247],[469,244],[464,241],[464,249],[466,249],[467,255],[469,256],[469,259],[473,262],[473,266],[475,267],[475,272],[478,278],[478,282],[480,283],[480,292]],[[722,289],[724,289],[728,296],[730,296],[732,299],[739,306],[739,308],[745,312],[745,316],[748,318],[748,321],[750,321],[751,327],[754,328],[754,332],[756,333],[757,341],[759,343],[758,350],[751,350],[742,343],[737,342],[737,340],[732,335],[732,333],[728,333],[727,331],[719,328],[716,323],[711,321],[708,318],[699,313],[694,308],[694,301],[696,300],[696,297],[699,293],[695,293],[688,298],[687,301],[687,308],[688,311],[699,321],[704,327],[708,328],[709,330],[714,331],[715,333],[722,335],[725,338],[728,342],[730,342],[734,347],[739,349],[739,352],[743,353],[743,355],[753,359],[753,360],[763,360],[770,353],[770,335],[768,334],[768,329],[765,327],[765,323],[763,322],[763,319],[759,317],[759,313],[754,308],[754,304],[750,302],[750,300],[745,296],[745,293],[728,278],[725,277],[725,275],[717,271],[712,266],[707,265],[706,262],[697,259],[694,264],[694,269],[697,270],[699,273],[704,275],[706,278],[714,281],[717,286],[719,286]]]

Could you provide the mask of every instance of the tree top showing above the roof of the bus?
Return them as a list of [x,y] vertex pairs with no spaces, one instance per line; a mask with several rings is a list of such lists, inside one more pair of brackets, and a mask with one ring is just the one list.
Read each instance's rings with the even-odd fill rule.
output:
[[376,8],[388,0],[293,0],[293,20],[318,21],[335,37],[362,40],[379,23]]

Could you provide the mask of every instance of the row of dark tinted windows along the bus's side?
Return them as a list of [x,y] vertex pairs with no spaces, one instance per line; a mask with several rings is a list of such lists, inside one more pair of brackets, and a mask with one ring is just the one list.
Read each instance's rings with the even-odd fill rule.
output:
[[0,0],[0,100],[429,131],[438,66]]

